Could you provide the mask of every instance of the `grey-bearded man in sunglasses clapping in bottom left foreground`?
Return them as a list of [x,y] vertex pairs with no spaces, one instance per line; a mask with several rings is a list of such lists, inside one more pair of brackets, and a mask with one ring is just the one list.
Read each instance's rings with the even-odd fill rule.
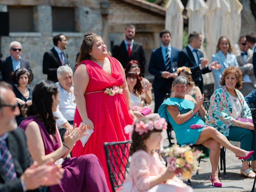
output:
[[10,84],[0,82],[0,191],[24,192],[58,184],[64,173],[60,165],[32,163],[25,133],[17,128],[15,116],[20,110],[15,97]]

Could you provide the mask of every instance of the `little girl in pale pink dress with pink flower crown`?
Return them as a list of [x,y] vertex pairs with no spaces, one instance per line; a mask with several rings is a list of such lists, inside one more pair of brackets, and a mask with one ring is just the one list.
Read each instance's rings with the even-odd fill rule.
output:
[[166,168],[159,154],[161,132],[167,128],[164,118],[141,118],[134,125],[125,127],[132,132],[130,171],[120,192],[192,192],[192,188],[178,179]]

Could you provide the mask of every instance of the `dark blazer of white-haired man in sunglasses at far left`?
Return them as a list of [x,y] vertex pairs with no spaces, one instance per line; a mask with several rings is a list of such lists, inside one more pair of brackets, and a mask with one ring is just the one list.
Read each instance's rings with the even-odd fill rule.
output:
[[[21,68],[24,67],[32,73],[31,67],[30,67],[29,62],[27,60],[24,60],[24,59],[21,58],[20,59],[20,67]],[[5,82],[8,82],[8,83],[13,85],[12,78],[10,76],[11,72],[14,71],[13,66],[12,66],[11,56],[2,60],[2,62],[0,63],[0,71],[1,71],[1,74],[2,74],[2,79],[1,80],[5,81]],[[0,76],[0,78],[1,78],[1,76]]]

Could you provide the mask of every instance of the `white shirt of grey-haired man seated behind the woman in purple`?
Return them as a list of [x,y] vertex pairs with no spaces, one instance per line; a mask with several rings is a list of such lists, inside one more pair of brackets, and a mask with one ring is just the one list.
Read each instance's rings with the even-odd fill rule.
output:
[[71,95],[64,90],[59,82],[56,83],[58,85],[59,93],[60,93],[60,101],[57,106],[57,110],[53,112],[53,115],[58,119],[56,120],[57,126],[61,126],[67,121],[74,120],[74,114],[76,109],[76,103],[74,103],[74,87],[71,87]]

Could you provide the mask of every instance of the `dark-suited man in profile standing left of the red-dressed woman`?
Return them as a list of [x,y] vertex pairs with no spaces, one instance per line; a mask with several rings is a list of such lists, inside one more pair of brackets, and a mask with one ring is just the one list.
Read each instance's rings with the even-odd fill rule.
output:
[[67,39],[63,34],[58,34],[52,39],[54,47],[44,53],[43,73],[47,74],[47,79],[58,82],[57,69],[59,66],[69,65],[68,54],[64,54],[63,50],[67,48]]

